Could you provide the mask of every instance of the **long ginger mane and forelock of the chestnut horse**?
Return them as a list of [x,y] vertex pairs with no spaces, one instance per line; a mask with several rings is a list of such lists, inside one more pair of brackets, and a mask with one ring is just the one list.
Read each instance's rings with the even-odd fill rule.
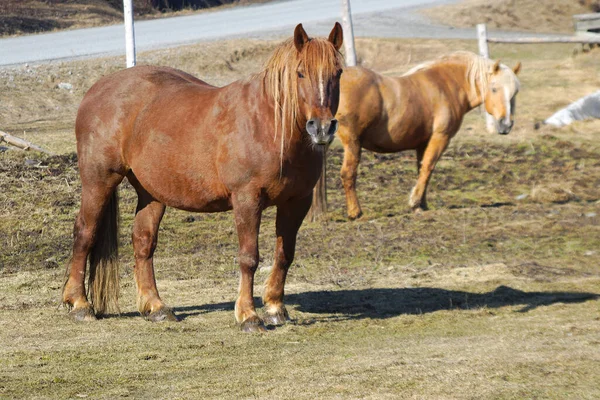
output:
[[298,52],[293,39],[283,42],[267,61],[264,69],[265,90],[273,99],[275,113],[275,139],[281,140],[281,155],[285,132],[290,136],[300,129],[298,117],[298,67],[302,67],[304,79],[319,82],[329,79],[343,66],[341,54],[326,39],[310,39]]

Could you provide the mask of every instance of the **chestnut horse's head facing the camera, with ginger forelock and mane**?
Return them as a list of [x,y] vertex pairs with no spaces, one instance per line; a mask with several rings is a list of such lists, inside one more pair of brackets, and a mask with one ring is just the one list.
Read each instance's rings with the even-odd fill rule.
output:
[[[275,125],[281,132],[306,131],[315,145],[333,140],[340,98],[342,27],[329,39],[309,38],[302,24],[294,38],[277,49],[267,64],[267,89],[275,102]],[[282,147],[283,149],[283,147]]]

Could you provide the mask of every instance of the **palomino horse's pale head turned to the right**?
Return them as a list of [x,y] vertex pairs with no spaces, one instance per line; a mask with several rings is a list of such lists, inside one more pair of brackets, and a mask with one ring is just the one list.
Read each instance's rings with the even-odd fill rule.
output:
[[521,63],[510,69],[496,61],[492,66],[490,78],[485,93],[485,109],[494,117],[496,131],[501,135],[510,132],[514,124],[516,96],[519,92],[519,79],[517,74]]

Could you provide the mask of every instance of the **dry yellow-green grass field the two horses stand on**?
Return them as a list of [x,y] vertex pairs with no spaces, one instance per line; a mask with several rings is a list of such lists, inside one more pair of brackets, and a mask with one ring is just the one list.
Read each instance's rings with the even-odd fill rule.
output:
[[[362,39],[357,47],[364,65],[400,74],[476,43]],[[138,60],[223,85],[257,71],[273,48],[229,41]],[[67,318],[60,291],[80,192],[74,117],[87,88],[124,62],[0,70],[0,129],[56,154],[0,153],[0,397],[599,398],[600,123],[533,125],[597,90],[600,52],[491,52],[523,62],[513,132],[487,134],[469,114],[434,172],[432,210],[423,215],[407,204],[414,154],[366,152],[358,181],[365,216],[354,222],[344,218],[334,146],[330,213],[303,225],[288,279],[293,322],[264,335],[234,323],[231,213],[167,211],[157,280],[182,321],[137,315],[127,185],[122,314],[88,324]],[[272,261],[273,209],[263,221],[259,282]]]

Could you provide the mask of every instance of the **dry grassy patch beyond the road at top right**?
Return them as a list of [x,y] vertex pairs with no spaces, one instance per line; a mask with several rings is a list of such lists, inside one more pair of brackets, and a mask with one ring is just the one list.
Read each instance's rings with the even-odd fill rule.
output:
[[462,0],[422,13],[461,28],[485,23],[492,29],[572,33],[574,14],[598,11],[599,7],[595,0]]

